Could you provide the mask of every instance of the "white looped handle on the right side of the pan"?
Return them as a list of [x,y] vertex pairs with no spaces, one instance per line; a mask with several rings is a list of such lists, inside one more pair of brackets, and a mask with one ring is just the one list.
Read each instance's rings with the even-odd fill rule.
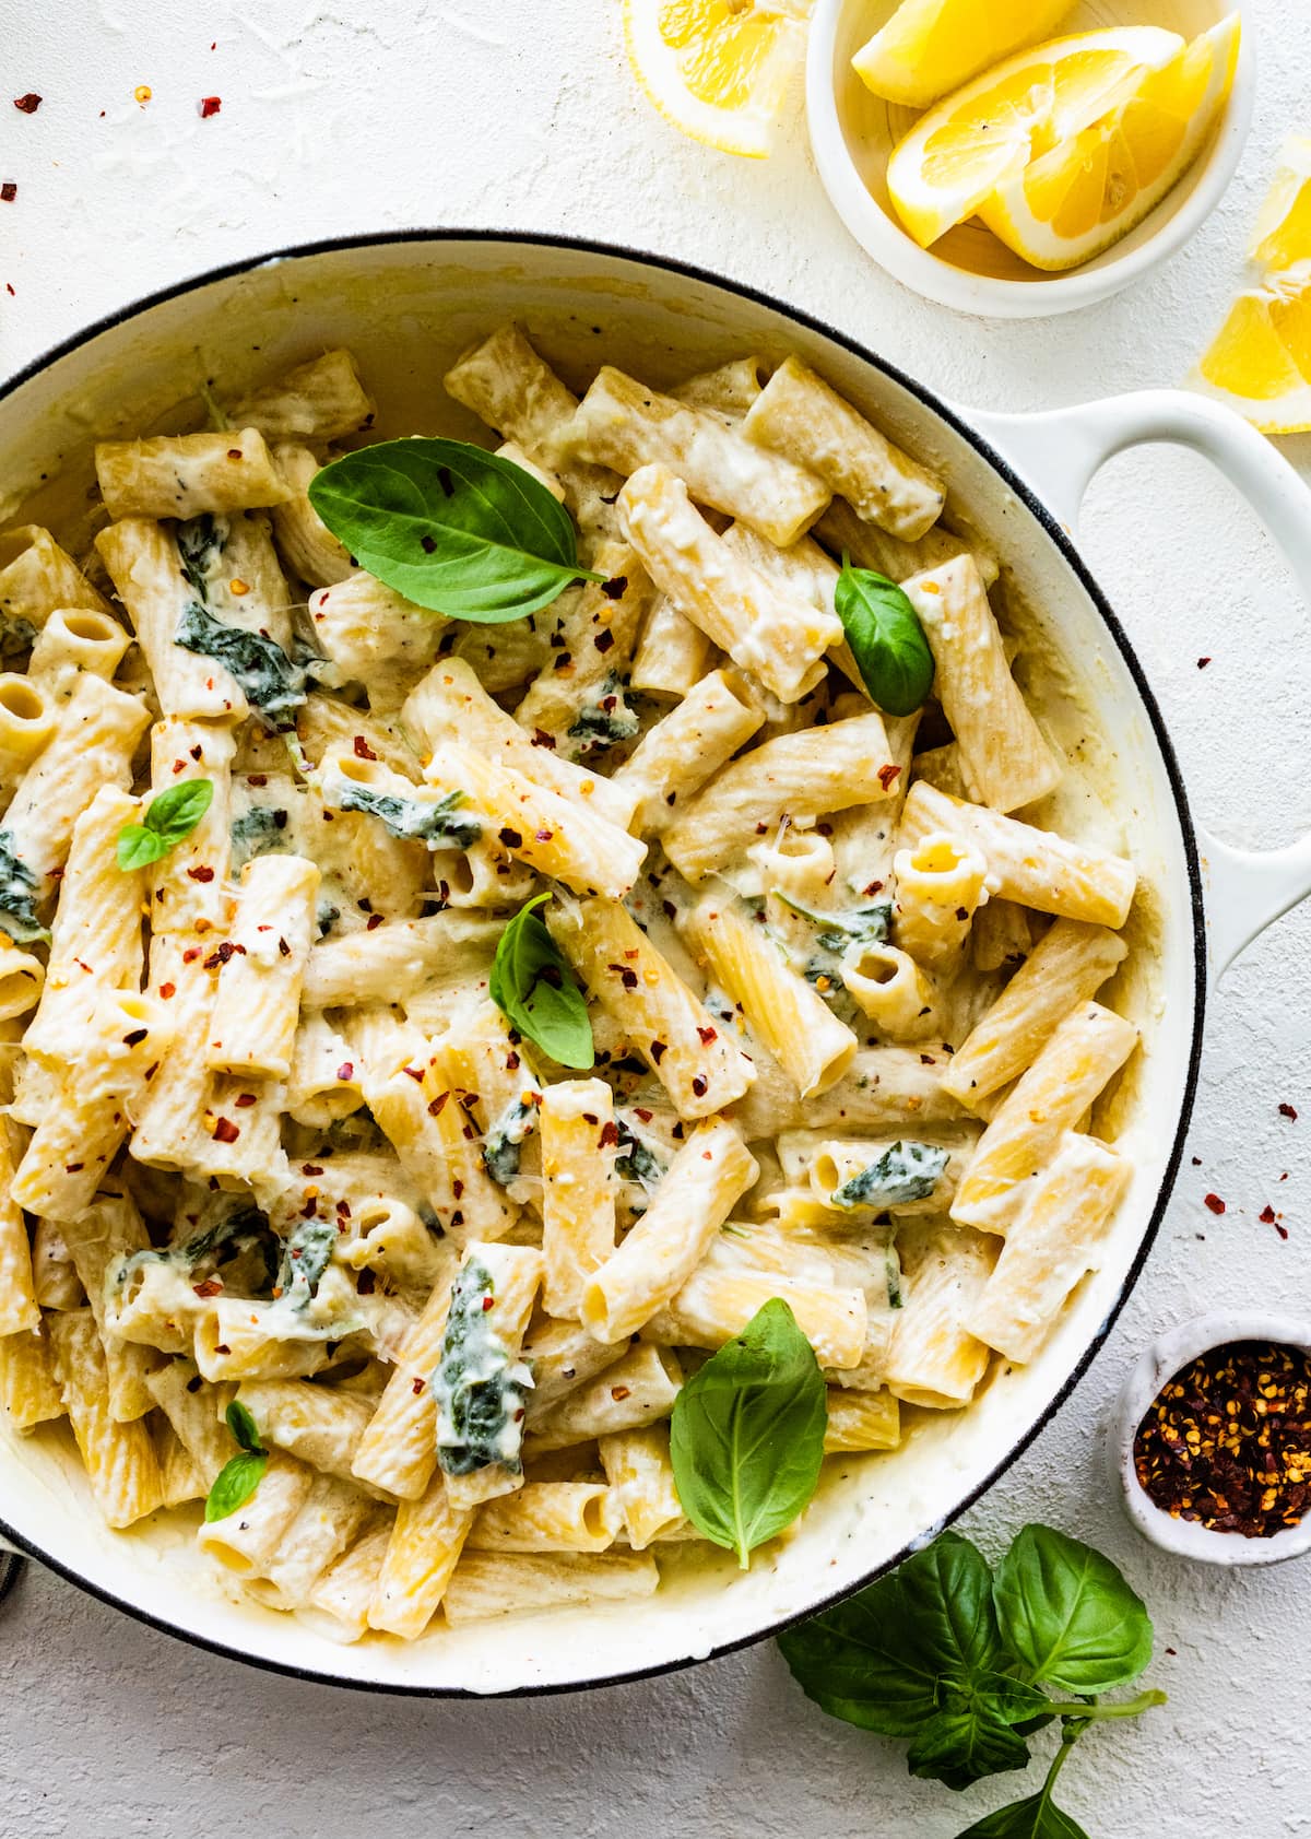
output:
[[[1092,476],[1127,447],[1191,447],[1225,473],[1287,555],[1311,609],[1311,489],[1263,434],[1219,403],[1184,390],[1142,390],[1035,416],[967,412],[1077,533]],[[1285,850],[1236,850],[1199,826],[1208,883],[1212,988],[1274,920],[1311,894],[1311,837]]]

